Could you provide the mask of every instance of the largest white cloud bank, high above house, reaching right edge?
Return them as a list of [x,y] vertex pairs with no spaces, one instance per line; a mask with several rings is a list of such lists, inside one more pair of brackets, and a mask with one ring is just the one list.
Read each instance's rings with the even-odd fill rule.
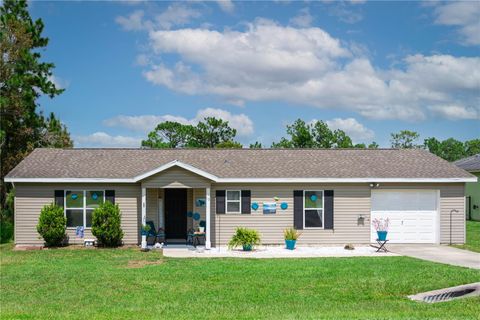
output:
[[153,56],[179,58],[173,65],[150,67],[145,78],[190,95],[284,101],[409,121],[425,119],[434,110],[427,106],[478,105],[478,57],[411,55],[382,70],[320,28],[265,19],[245,31],[185,28],[149,36]]

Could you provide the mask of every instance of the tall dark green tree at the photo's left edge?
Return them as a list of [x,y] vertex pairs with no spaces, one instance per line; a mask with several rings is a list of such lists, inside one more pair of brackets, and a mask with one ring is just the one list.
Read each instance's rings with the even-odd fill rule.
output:
[[43,22],[32,20],[25,0],[4,0],[0,6],[0,202],[2,219],[10,186],[4,176],[34,148],[72,146],[65,126],[54,115],[37,111],[42,95],[63,92],[51,81],[53,63],[42,62],[48,45]]

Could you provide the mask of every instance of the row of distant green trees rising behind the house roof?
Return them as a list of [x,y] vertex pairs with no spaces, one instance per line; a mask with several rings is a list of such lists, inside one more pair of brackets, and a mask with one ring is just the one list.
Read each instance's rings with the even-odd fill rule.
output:
[[[205,118],[196,126],[173,121],[161,122],[142,141],[146,148],[243,148],[235,141],[237,131],[228,121],[213,117]],[[440,141],[435,137],[426,138],[419,143],[420,135],[415,131],[402,130],[391,134],[391,147],[397,149],[423,148],[447,160],[455,161],[480,153],[480,139],[461,142],[454,138]],[[249,145],[250,149],[262,148],[260,142]],[[295,120],[286,127],[286,137],[273,142],[270,148],[358,148],[377,149],[378,143],[352,142],[352,138],[340,129],[331,129],[322,120],[307,123]]]

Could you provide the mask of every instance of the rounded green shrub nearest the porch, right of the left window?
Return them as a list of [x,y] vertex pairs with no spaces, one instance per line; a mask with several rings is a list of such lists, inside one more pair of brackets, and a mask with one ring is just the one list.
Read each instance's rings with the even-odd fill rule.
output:
[[122,244],[123,231],[118,204],[106,201],[93,210],[92,234],[104,246],[116,247]]

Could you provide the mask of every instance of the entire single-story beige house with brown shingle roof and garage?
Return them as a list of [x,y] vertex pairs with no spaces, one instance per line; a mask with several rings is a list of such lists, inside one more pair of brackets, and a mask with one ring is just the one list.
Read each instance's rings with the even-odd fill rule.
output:
[[91,237],[105,199],[120,206],[125,244],[140,242],[145,221],[169,239],[205,221],[209,247],[239,226],[264,244],[283,243],[292,226],[299,244],[370,243],[375,217],[390,218],[392,242],[463,243],[465,183],[477,178],[417,149],[36,149],[5,181],[16,189],[17,245],[43,243],[35,226],[52,202],[70,241],[79,225]]

